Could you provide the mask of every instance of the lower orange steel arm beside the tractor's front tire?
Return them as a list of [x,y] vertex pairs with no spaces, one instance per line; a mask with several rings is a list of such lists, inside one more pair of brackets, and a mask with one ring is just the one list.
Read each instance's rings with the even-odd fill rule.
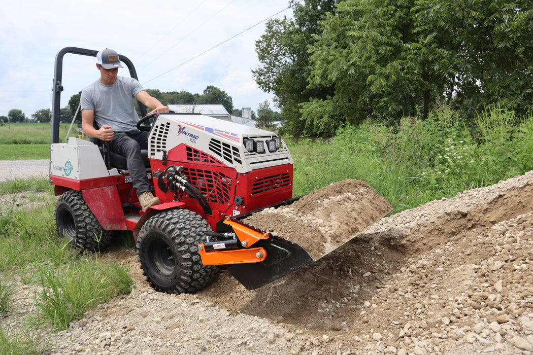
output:
[[266,258],[266,251],[262,247],[206,252],[204,244],[198,244],[198,252],[204,265],[245,264],[261,262]]

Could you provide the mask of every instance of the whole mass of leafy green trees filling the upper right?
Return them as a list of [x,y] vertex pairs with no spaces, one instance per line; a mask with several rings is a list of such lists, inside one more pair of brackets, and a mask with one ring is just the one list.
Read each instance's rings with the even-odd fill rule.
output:
[[473,119],[533,108],[533,3],[525,0],[291,0],[256,42],[257,84],[293,135],[368,118]]

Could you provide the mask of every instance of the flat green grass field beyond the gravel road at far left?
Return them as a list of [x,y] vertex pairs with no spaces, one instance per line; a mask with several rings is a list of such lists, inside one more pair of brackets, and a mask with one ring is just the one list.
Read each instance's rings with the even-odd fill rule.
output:
[[[61,123],[59,137],[63,142],[70,125]],[[76,137],[77,126],[73,126],[70,137]],[[49,159],[49,123],[8,123],[0,126],[0,160]],[[65,140],[66,141],[66,140]]]

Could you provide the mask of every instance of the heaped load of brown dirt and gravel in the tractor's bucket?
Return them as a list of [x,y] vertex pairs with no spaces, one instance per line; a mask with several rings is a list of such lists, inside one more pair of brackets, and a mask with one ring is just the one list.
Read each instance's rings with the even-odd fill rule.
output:
[[255,213],[245,222],[300,244],[317,260],[391,209],[365,181],[347,179],[313,191],[288,207]]

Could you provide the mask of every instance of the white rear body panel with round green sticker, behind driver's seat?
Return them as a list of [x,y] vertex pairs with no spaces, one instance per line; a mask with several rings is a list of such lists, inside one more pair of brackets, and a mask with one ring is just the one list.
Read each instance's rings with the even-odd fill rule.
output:
[[98,146],[79,138],[68,144],[52,144],[50,174],[64,178],[85,180],[109,176]]

